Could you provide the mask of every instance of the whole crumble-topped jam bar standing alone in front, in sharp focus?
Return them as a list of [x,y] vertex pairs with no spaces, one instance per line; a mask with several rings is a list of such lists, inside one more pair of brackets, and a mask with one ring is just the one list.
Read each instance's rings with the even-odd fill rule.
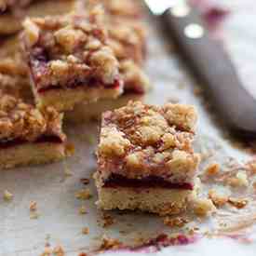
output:
[[185,210],[199,163],[195,123],[194,107],[181,104],[130,101],[104,113],[94,175],[98,206],[160,215]]

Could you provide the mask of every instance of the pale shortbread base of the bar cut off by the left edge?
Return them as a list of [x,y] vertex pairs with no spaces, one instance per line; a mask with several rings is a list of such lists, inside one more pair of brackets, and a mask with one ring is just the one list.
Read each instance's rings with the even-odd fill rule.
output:
[[0,149],[0,169],[51,163],[65,156],[65,143],[28,142]]

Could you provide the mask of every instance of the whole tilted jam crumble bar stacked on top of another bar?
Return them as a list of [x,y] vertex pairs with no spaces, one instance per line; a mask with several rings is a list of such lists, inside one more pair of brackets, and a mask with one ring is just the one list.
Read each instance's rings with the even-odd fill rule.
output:
[[24,48],[40,106],[67,111],[79,102],[122,93],[119,62],[107,45],[101,15],[97,8],[87,16],[24,21]]

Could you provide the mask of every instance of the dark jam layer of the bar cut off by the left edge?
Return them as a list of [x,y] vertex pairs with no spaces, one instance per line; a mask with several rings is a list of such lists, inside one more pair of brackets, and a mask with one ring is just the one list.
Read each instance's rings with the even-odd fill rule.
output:
[[[36,141],[33,141],[32,143],[62,143],[63,141],[61,140],[60,137],[58,136],[41,136],[38,138]],[[12,141],[0,141],[0,149],[6,149],[9,147],[14,147],[18,146],[24,143],[30,143],[30,141],[25,141],[22,139],[15,139]]]

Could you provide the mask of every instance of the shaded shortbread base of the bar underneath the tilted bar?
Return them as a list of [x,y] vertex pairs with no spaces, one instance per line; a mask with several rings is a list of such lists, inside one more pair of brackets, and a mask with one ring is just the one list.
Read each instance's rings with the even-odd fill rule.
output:
[[79,103],[72,111],[65,113],[65,119],[71,123],[86,122],[91,119],[100,119],[101,114],[108,110],[114,110],[127,105],[128,101],[143,101],[144,95],[138,93],[128,93],[121,95],[117,99],[105,99],[88,104]]

